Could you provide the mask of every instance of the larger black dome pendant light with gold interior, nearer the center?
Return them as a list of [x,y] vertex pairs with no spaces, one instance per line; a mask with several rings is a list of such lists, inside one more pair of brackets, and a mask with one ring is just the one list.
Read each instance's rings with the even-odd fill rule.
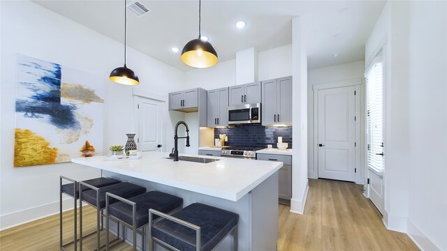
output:
[[198,1],[198,38],[186,43],[182,50],[182,61],[195,68],[214,66],[219,59],[217,52],[208,41],[203,41],[200,34],[200,0]]

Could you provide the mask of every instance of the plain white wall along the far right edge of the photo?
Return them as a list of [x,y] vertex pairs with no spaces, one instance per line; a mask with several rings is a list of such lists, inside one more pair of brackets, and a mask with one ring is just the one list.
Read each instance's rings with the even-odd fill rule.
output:
[[446,1],[409,4],[408,234],[423,250],[447,250],[446,33]]

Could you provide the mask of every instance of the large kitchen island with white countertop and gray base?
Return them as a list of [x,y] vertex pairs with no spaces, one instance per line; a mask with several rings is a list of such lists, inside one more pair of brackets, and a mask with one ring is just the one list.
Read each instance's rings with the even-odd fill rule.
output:
[[[116,161],[95,156],[73,158],[72,162],[101,169],[102,176],[177,195],[184,199],[184,206],[200,202],[238,213],[239,250],[276,250],[277,171],[282,162],[221,157],[209,163],[174,162],[168,154],[146,152],[138,160]],[[233,236],[227,236],[218,250],[231,250],[232,245]]]

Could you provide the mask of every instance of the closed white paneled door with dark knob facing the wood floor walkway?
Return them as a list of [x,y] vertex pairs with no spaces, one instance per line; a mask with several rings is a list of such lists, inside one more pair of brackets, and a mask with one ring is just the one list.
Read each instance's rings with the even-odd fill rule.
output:
[[318,178],[356,180],[355,90],[318,90]]

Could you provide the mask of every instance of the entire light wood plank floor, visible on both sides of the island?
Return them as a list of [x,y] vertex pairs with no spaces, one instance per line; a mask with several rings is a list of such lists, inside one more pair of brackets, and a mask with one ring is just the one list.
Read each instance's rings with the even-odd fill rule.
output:
[[[309,180],[304,215],[279,205],[279,251],[298,250],[418,250],[406,234],[389,231],[379,213],[362,195],[362,185]],[[95,229],[96,211],[85,207],[84,232]],[[64,215],[64,243],[72,240],[72,211]],[[105,231],[101,234],[105,243]],[[113,238],[113,237],[111,237]],[[83,249],[96,248],[96,236],[85,239]],[[73,245],[67,246],[73,250]],[[59,215],[0,231],[0,250],[59,250]],[[112,250],[132,250],[118,243]]]

